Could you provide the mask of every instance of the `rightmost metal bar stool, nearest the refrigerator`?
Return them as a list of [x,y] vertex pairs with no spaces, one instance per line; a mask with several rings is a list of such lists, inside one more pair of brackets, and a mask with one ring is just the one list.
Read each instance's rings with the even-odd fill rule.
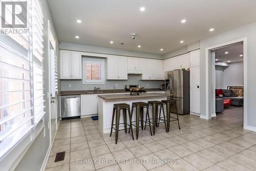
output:
[[[166,113],[167,113],[166,114],[167,115],[167,129],[166,129],[166,132],[169,132],[170,122],[172,122],[172,121],[178,121],[179,130],[180,130],[179,114],[178,114],[178,109],[177,109],[177,101],[178,100],[180,100],[180,99],[172,98],[172,97],[167,99],[167,100],[162,100],[163,104],[166,104]],[[177,118],[170,116],[170,108],[171,108],[172,105],[175,105]],[[170,118],[173,118],[174,120],[170,120]]]

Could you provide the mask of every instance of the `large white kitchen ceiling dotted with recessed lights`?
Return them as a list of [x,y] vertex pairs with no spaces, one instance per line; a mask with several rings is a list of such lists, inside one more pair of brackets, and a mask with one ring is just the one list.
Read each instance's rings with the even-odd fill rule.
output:
[[[256,20],[255,0],[48,0],[59,41],[165,54]],[[140,7],[145,7],[141,12]],[[187,22],[181,24],[181,19]],[[77,19],[82,23],[78,24]],[[215,28],[214,32],[209,32]],[[132,33],[137,33],[132,40]],[[78,35],[80,38],[76,39]],[[110,44],[110,40],[114,44]],[[180,40],[184,40],[180,44]],[[123,42],[124,45],[120,45]],[[137,48],[141,45],[141,48]],[[160,49],[163,48],[163,51]]]

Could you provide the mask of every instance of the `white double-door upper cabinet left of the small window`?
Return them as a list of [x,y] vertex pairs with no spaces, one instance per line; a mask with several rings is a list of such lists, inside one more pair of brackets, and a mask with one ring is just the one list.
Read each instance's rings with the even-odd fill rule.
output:
[[80,52],[60,50],[60,79],[82,79]]

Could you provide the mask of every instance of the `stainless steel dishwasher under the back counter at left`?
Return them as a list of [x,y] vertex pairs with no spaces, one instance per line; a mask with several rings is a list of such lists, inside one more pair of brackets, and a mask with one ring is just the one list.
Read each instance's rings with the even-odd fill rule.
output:
[[61,118],[81,116],[80,95],[61,96]]

